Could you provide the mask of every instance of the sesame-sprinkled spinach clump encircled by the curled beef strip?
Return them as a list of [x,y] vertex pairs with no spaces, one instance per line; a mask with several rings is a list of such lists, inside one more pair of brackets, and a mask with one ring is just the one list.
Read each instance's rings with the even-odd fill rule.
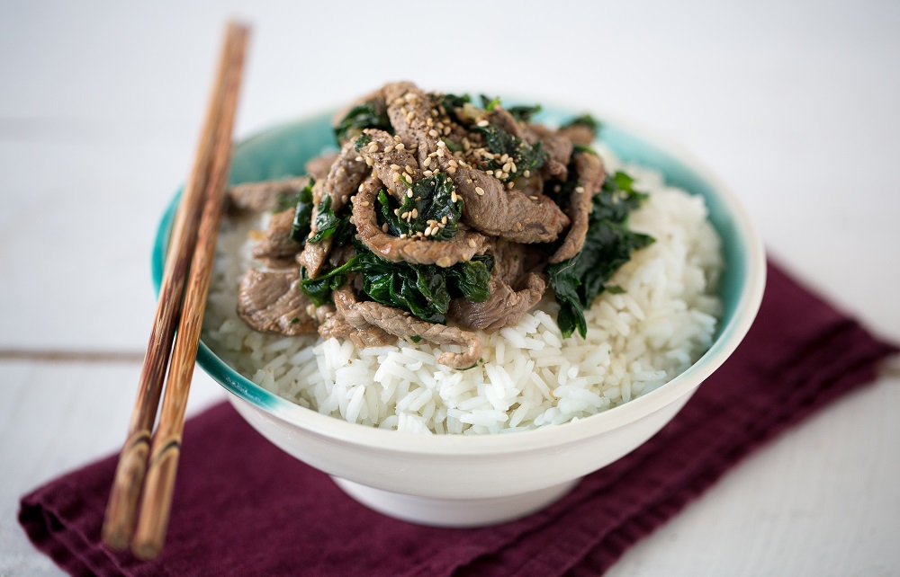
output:
[[[455,197],[455,186],[445,173],[437,173],[413,182],[412,196],[407,195],[399,207],[384,191],[379,191],[376,205],[392,235],[428,236],[433,240],[450,240],[459,230],[463,215],[463,199]],[[436,223],[441,223],[437,225]]]

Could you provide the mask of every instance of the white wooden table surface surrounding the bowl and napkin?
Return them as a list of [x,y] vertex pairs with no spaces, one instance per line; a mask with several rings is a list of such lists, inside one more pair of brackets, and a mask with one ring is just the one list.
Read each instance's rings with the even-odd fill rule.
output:
[[[254,26],[239,136],[401,78],[610,111],[686,146],[781,262],[900,340],[900,4],[212,4],[0,4],[0,575],[58,573],[18,498],[123,439],[157,219],[230,15]],[[190,410],[223,395],[198,372]],[[900,574],[898,407],[895,360],[610,574]]]

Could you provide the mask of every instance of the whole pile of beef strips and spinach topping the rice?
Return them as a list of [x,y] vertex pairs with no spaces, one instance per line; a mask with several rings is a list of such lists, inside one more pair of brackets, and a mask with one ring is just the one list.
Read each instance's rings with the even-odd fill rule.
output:
[[[337,155],[289,181],[242,184],[238,209],[275,214],[238,294],[258,331],[320,333],[377,346],[458,345],[440,362],[468,368],[479,332],[517,324],[545,297],[563,335],[631,253],[653,242],[628,228],[644,195],[608,175],[581,116],[550,129],[540,106],[386,84],[334,122]],[[547,288],[550,290],[548,291]]]

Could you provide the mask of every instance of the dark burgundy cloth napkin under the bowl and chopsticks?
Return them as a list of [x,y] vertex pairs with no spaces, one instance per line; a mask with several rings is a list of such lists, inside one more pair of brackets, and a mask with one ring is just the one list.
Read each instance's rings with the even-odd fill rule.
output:
[[596,575],[753,448],[873,380],[896,351],[770,265],[751,332],[676,418],[527,519],[442,529],[383,517],[220,404],[187,422],[157,561],[100,544],[116,457],[23,497],[19,520],[73,574]]

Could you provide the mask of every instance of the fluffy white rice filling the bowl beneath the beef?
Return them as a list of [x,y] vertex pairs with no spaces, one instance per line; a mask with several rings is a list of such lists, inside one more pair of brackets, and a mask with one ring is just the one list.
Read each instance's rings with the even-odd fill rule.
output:
[[[616,160],[602,151],[611,173]],[[222,360],[289,401],[349,422],[420,433],[482,434],[559,425],[626,403],[671,380],[707,351],[721,303],[720,241],[704,200],[626,166],[651,193],[631,227],[656,242],[633,255],[585,312],[586,339],[563,339],[553,297],[500,333],[482,334],[482,363],[437,364],[441,349],[399,342],[356,349],[318,335],[256,333],[235,313],[238,281],[254,266],[247,233],[223,225],[203,338]],[[454,349],[451,347],[451,349]],[[455,351],[462,351],[455,348]]]

